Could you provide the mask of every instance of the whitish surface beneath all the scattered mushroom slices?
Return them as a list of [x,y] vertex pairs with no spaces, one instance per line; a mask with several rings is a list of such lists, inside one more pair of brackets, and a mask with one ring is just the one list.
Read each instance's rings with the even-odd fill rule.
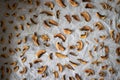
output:
[[[7,0],[6,0],[7,1]],[[17,2],[18,0],[8,0],[7,2],[9,3],[14,3],[14,2]],[[34,1],[34,0],[33,0]],[[3,33],[0,29],[0,37],[1,36],[4,36],[6,41],[7,41],[7,36],[9,33],[13,33],[13,35],[15,35],[16,33],[21,33],[21,35],[17,38],[17,37],[14,37],[12,39],[12,43],[11,44],[8,44],[7,42],[5,42],[5,44],[0,44],[0,53],[5,53],[5,54],[8,54],[8,50],[6,52],[3,52],[2,51],[2,47],[3,46],[7,46],[8,48],[23,48],[24,45],[28,45],[30,46],[30,49],[25,53],[25,57],[27,57],[27,61],[25,63],[22,63],[21,62],[21,58],[19,57],[20,56],[20,52],[16,52],[14,55],[10,55],[9,58],[7,59],[4,59],[4,58],[0,58],[0,66],[3,66],[3,63],[4,62],[13,62],[13,61],[18,61],[18,66],[20,66],[20,69],[17,71],[17,72],[12,72],[11,75],[7,75],[6,74],[6,77],[9,77],[9,80],[22,80],[23,78],[27,78],[27,80],[61,80],[61,77],[65,74],[66,75],[66,80],[68,80],[69,76],[74,76],[75,73],[78,73],[81,78],[83,80],[90,80],[91,78],[97,78],[99,79],[100,76],[99,76],[99,71],[101,69],[101,66],[102,65],[105,65],[105,64],[108,64],[109,67],[114,67],[115,70],[117,71],[117,73],[111,75],[108,71],[105,71],[107,73],[106,77],[104,77],[105,80],[117,80],[118,78],[120,79],[120,65],[116,64],[115,60],[116,58],[118,58],[116,56],[116,48],[120,46],[120,44],[116,44],[114,43],[114,41],[112,41],[112,39],[110,38],[110,35],[109,35],[109,30],[111,29],[114,29],[115,30],[115,34],[120,32],[119,29],[116,28],[116,24],[117,23],[120,23],[120,14],[118,13],[115,13],[114,11],[109,11],[109,10],[104,10],[101,6],[100,6],[100,2],[108,2],[107,0],[92,0],[92,4],[95,5],[95,9],[85,9],[84,6],[86,4],[86,2],[82,2],[81,0],[76,0],[79,2],[79,7],[72,7],[69,3],[68,3],[68,0],[65,0],[65,4],[67,5],[67,7],[64,9],[64,8],[60,8],[57,4],[55,4],[55,7],[53,10],[50,10],[49,8],[47,8],[46,6],[44,6],[44,2],[46,1],[49,1],[49,0],[41,0],[41,4],[39,7],[36,7],[35,4],[33,5],[26,5],[27,3],[24,3],[24,2],[19,2],[18,4],[18,7],[22,8],[21,10],[18,10],[16,9],[15,11],[10,11],[10,10],[7,10],[5,8],[5,2],[4,0],[0,0],[0,19],[4,19],[6,20],[6,27],[7,27],[7,31],[6,33]],[[53,1],[54,3],[56,3],[54,0],[50,0],[50,1]],[[116,5],[116,1],[113,0],[113,2],[108,2],[113,8],[116,8],[116,10],[119,11],[120,13],[120,6],[117,6]],[[33,8],[33,12],[32,13],[29,13],[28,10],[30,8]],[[56,12],[56,10],[60,10],[60,19],[57,19],[56,16],[52,16],[52,17],[49,17],[49,16],[46,16],[44,14],[40,14],[41,11],[43,10],[49,10],[49,11],[52,11]],[[83,11],[87,11],[89,12],[90,16],[91,16],[91,21],[90,22],[86,22],[84,20],[84,18],[80,15],[81,12]],[[5,18],[3,16],[3,14],[5,12],[9,12],[10,14],[12,14],[13,12],[17,12],[17,15],[25,15],[26,16],[26,20],[25,21],[20,21],[20,20],[17,20],[17,18],[14,18],[12,16],[8,17],[8,18]],[[101,20],[99,18],[97,18],[95,16],[95,13],[96,12],[100,12],[102,13],[103,15],[107,15],[107,18],[105,20]],[[30,28],[27,28],[26,27],[26,23],[27,22],[30,22],[30,18],[33,18],[33,15],[38,15],[38,18],[34,18],[34,20],[36,22],[38,22],[37,25],[31,25]],[[78,21],[75,21],[74,19],[72,19],[72,22],[69,24],[64,15],[66,14],[77,14],[79,15],[80,17],[80,22]],[[56,20],[58,23],[59,23],[59,27],[56,27],[56,26],[52,26],[51,28],[47,29],[43,26],[43,20],[47,20],[47,19],[53,19],[53,20]],[[13,24],[9,24],[8,21],[10,20],[13,20],[14,23]],[[112,25],[110,25],[110,20],[113,20],[113,23]],[[94,27],[94,23],[97,22],[97,21],[100,21],[103,23],[103,25],[105,26],[105,30],[102,30],[102,31],[99,31],[97,30],[95,27]],[[14,30],[14,26],[18,26],[20,24],[23,24],[24,25],[24,31],[15,31]],[[79,30],[80,27],[84,26],[84,25],[89,25],[94,31],[91,32],[88,37],[86,39],[80,39],[80,35],[83,34],[82,31]],[[63,33],[63,29],[64,28],[70,28],[72,29],[74,32],[71,34],[71,35],[65,35],[67,37],[66,41],[65,42],[62,42],[61,39],[59,38],[54,38],[54,34],[56,33]],[[36,32],[38,35],[42,35],[42,34],[48,34],[49,37],[50,37],[50,47],[45,47],[43,45],[43,41],[39,38],[39,42],[40,42],[40,46],[35,46],[33,44],[33,41],[31,39],[31,36],[32,34]],[[93,51],[93,46],[94,45],[97,45],[99,46],[98,44],[95,43],[94,41],[94,38],[99,38],[100,35],[103,35],[103,34],[106,34],[108,35],[108,38],[106,40],[99,40],[99,42],[104,42],[105,45],[109,46],[110,48],[110,52],[109,52],[109,58],[105,61],[102,62],[102,64],[100,64],[99,66],[95,66],[95,65],[92,65],[90,64],[92,61],[96,60],[96,59],[99,59],[101,55],[104,55],[104,49],[102,50],[98,50],[97,52],[94,52]],[[27,43],[22,43],[20,45],[17,45],[17,40],[18,39],[23,39],[25,36],[27,36],[28,40],[27,40]],[[61,42],[65,47],[68,47],[69,45],[74,45],[76,44],[76,42],[78,40],[82,40],[83,43],[84,43],[84,48],[82,51],[78,52],[77,50],[69,50],[68,48],[66,48],[65,51],[61,52],[61,51],[58,51],[55,47],[55,42]],[[89,44],[86,44],[85,41],[88,41]],[[41,57],[41,59],[43,60],[43,62],[41,63],[38,63],[38,64],[34,64],[32,68],[29,67],[29,62],[33,62],[33,60],[36,59],[35,57],[35,53],[40,50],[40,49],[46,49],[46,53]],[[89,50],[92,50],[92,53],[94,55],[94,58],[91,59],[88,55],[88,51]],[[74,57],[74,56],[71,56],[71,55],[68,55],[68,58],[66,59],[58,59],[55,55],[53,55],[53,60],[49,60],[48,59],[48,55],[50,53],[55,53],[55,52],[61,52],[63,54],[69,54],[69,52],[75,52],[78,56],[77,57]],[[74,62],[78,62],[76,59],[78,58],[81,58],[81,59],[84,59],[86,61],[89,61],[88,64],[86,65],[83,65],[83,64],[80,64],[78,67],[74,67],[74,70],[68,70],[67,68],[64,69],[64,71],[62,73],[59,73],[59,78],[58,79],[55,79],[54,78],[54,75],[53,75],[53,71],[58,71],[58,68],[56,66],[56,64],[59,62],[61,64],[66,64],[66,63],[69,63],[69,60],[71,61],[74,61]],[[78,62],[79,63],[79,62]],[[48,76],[46,78],[42,78],[40,74],[37,73],[37,68],[38,67],[41,67],[42,65],[48,65],[48,69],[47,69],[47,73],[48,73]],[[5,67],[11,67],[11,69],[13,70],[13,67],[10,66],[9,64],[8,65],[4,65]],[[21,75],[19,74],[19,71],[22,70],[23,67],[27,67],[28,68],[28,71],[26,74],[24,75]],[[84,73],[84,70],[86,68],[92,68],[93,70],[95,70],[95,75],[93,76],[86,76],[85,73]],[[1,79],[2,80],[2,79]],[[3,79],[4,80],[4,79]]]

